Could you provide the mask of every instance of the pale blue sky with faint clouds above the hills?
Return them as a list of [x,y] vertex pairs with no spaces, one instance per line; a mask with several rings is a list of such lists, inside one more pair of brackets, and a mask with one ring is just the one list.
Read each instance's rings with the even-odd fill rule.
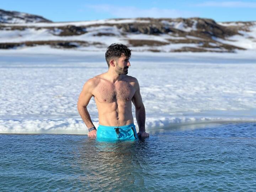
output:
[[256,0],[9,0],[0,9],[41,15],[52,21],[86,21],[134,17],[204,17],[215,21],[256,21]]

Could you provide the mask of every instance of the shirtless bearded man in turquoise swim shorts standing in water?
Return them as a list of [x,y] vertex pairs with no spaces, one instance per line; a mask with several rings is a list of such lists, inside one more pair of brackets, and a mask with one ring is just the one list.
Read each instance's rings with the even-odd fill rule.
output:
[[[108,64],[106,73],[89,79],[78,99],[78,112],[89,129],[88,137],[111,139],[145,138],[145,107],[140,95],[138,80],[128,74],[131,50],[123,44],[111,44],[105,54]],[[95,128],[86,108],[94,97],[99,118]],[[139,132],[133,124],[132,102],[135,106]]]

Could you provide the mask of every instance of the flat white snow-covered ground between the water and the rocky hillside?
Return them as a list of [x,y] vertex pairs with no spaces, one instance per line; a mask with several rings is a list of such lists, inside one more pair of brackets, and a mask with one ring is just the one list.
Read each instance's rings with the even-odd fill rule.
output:
[[[104,55],[48,46],[0,50],[0,133],[87,134],[76,103],[86,80],[107,70]],[[133,52],[130,62],[128,75],[139,80],[149,132],[190,123],[256,121],[252,51]],[[98,126],[93,98],[88,109]]]

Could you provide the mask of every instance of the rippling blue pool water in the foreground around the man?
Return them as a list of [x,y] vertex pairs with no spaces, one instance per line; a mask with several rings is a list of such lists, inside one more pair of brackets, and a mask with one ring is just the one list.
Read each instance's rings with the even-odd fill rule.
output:
[[0,191],[255,191],[256,123],[171,127],[135,141],[0,134]]

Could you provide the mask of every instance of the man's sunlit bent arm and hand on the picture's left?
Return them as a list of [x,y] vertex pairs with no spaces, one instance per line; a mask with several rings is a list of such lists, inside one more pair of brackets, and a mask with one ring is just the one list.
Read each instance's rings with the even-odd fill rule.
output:
[[[85,84],[84,87],[79,95],[78,98],[78,103],[77,103],[77,108],[78,108],[78,112],[82,118],[82,120],[84,121],[86,127],[92,128],[95,127],[94,124],[91,121],[91,117],[90,114],[87,110],[87,105],[90,102],[92,95],[92,90],[94,88],[94,80],[93,79],[89,79]],[[92,130],[88,133],[89,137],[94,137],[96,136],[96,130]]]

